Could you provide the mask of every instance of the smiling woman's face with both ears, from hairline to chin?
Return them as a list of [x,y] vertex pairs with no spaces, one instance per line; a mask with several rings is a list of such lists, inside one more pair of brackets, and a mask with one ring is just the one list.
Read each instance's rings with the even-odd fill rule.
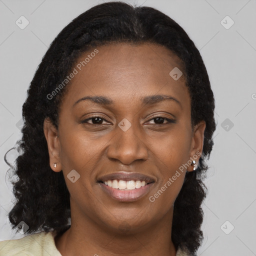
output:
[[142,230],[171,219],[185,171],[192,170],[180,166],[201,153],[205,123],[192,129],[184,75],[169,74],[174,67],[183,72],[181,61],[164,46],[96,48],[74,65],[58,129],[44,122],[50,166],[63,171],[72,224],[90,219],[107,230]]

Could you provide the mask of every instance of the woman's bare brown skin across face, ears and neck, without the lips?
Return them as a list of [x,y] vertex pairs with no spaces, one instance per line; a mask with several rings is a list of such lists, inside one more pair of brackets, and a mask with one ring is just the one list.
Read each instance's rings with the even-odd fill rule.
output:
[[[70,192],[71,227],[55,238],[56,247],[63,256],[174,256],[173,203],[185,171],[154,202],[149,196],[179,166],[202,152],[205,122],[191,127],[184,75],[178,80],[169,75],[174,67],[183,70],[182,63],[169,49],[152,43],[108,44],[97,49],[99,52],[67,85],[58,129],[49,119],[44,120],[50,167],[63,171]],[[76,63],[90,52],[83,53]],[[141,102],[141,97],[154,94],[170,95],[180,104],[175,100]],[[73,106],[84,96],[96,95],[108,97],[113,103],[82,100]],[[93,124],[95,119],[89,119],[89,123],[81,123],[92,115],[105,121]],[[175,123],[166,119],[159,122],[154,119],[157,116],[174,119]],[[118,126],[123,118],[131,123],[125,132]],[[80,174],[74,183],[67,178],[72,169]],[[187,171],[192,169],[191,165]],[[116,201],[96,179],[120,170],[147,174],[156,182],[136,201]]]

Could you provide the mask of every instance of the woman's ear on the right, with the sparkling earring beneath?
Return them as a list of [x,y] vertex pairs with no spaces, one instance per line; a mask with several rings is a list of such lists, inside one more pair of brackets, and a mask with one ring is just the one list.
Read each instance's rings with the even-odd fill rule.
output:
[[[199,158],[202,154],[205,126],[205,121],[202,120],[197,123],[193,129],[193,137],[191,140],[190,148],[190,160],[195,160],[196,165],[198,165]],[[193,165],[189,166],[187,171],[193,171]]]

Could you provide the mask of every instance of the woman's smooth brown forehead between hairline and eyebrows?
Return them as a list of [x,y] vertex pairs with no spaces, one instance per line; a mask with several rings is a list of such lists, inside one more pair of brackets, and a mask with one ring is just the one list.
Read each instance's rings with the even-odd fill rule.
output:
[[168,93],[180,99],[187,96],[184,75],[174,80],[169,74],[173,68],[184,73],[182,61],[158,44],[102,45],[82,53],[73,68],[77,73],[65,96],[70,103],[86,95],[106,95],[113,101],[135,100],[142,94]]

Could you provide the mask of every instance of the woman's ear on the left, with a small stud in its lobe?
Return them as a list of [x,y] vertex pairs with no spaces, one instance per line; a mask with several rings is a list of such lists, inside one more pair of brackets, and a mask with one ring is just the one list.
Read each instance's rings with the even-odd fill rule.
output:
[[[46,117],[43,121],[43,132],[48,145],[50,168],[56,172],[61,171],[58,131],[49,117]],[[56,163],[56,167],[54,167],[54,163]]]

